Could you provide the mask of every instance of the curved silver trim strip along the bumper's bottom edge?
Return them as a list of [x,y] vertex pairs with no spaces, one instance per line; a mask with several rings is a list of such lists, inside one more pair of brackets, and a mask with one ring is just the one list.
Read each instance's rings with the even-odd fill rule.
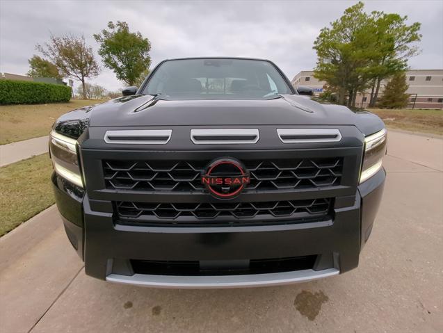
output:
[[267,273],[255,275],[220,275],[220,276],[172,276],[172,275],[144,275],[132,276],[111,274],[106,281],[135,286],[154,288],[177,289],[217,289],[217,288],[246,288],[256,286],[276,286],[306,282],[312,279],[321,279],[338,275],[337,268],[325,270],[297,270],[294,272]]

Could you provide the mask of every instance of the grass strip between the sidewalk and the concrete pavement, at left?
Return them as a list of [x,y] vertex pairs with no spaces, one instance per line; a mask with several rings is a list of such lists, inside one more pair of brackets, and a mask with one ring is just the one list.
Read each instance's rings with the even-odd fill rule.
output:
[[54,204],[49,154],[0,168],[0,236]]

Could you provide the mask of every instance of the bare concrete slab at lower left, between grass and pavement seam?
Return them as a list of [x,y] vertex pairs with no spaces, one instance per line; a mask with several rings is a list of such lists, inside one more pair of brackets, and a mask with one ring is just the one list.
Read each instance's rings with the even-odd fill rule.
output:
[[5,333],[29,332],[83,267],[56,206],[1,237],[0,254],[0,332]]

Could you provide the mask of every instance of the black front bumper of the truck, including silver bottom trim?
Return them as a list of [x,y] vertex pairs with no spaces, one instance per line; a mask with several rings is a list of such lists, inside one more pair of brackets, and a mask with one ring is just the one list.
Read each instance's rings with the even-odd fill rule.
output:
[[[86,274],[111,282],[170,288],[270,286],[344,273],[358,265],[371,234],[385,183],[385,170],[336,197],[334,219],[247,227],[142,227],[116,225],[108,202],[73,192],[55,174],[52,182],[70,242],[85,261]],[[131,260],[241,261],[316,256],[312,268],[243,275],[151,275],[134,271]]]

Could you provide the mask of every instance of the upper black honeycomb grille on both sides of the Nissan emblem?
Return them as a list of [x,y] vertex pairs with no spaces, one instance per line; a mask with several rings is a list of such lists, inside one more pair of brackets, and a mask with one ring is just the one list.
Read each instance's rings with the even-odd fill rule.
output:
[[[203,192],[200,176],[210,161],[104,161],[106,188],[140,191]],[[252,190],[338,186],[342,157],[243,161]]]

